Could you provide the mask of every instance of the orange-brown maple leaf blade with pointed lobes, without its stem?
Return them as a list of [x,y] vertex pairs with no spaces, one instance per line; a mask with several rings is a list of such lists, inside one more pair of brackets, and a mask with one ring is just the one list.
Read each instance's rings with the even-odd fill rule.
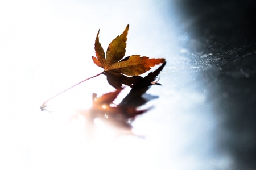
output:
[[122,84],[132,87],[133,84],[141,80],[142,77],[139,75],[165,61],[165,59],[149,59],[149,57],[141,57],[139,55],[132,55],[123,59],[125,56],[128,29],[129,25],[127,25],[121,35],[117,36],[117,38],[109,44],[106,57],[98,38],[100,30],[95,40],[94,48],[96,57],[92,56],[93,62],[98,67],[104,69],[103,73],[107,76],[109,84],[116,89],[121,89]]

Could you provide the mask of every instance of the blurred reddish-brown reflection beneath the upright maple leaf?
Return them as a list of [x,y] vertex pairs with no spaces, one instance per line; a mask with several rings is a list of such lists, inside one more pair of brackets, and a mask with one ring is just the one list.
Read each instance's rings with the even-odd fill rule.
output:
[[116,105],[113,101],[117,98],[118,94],[123,89],[115,90],[97,97],[97,94],[93,93],[92,107],[89,110],[77,110],[77,114],[73,115],[71,119],[77,118],[78,115],[82,115],[86,119],[85,131],[89,138],[92,138],[96,124],[95,120],[100,119],[109,127],[112,127],[115,135],[135,135],[131,130],[131,123],[135,117],[146,113],[149,109],[138,109],[139,106],[146,104],[151,99],[158,98],[158,96],[152,96],[146,94],[151,85],[160,85],[158,83],[158,75],[162,71],[164,65],[156,69],[154,72],[150,72],[146,77],[141,78],[133,88],[131,88],[129,94],[123,98],[123,100]]

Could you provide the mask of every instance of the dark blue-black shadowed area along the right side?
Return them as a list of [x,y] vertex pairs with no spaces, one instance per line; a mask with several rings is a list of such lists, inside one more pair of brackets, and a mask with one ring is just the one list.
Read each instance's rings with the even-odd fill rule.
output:
[[[192,64],[208,66],[208,100],[221,119],[218,150],[232,155],[237,169],[256,169],[256,1],[180,1],[181,41]],[[210,54],[208,57],[200,57]]]

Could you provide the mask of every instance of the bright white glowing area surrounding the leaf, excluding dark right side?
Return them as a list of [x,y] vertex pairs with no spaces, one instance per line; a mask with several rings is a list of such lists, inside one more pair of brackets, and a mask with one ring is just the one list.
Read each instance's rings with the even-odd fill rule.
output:
[[[204,93],[175,90],[179,84],[173,80],[184,83],[193,78],[177,78],[179,70],[172,71],[188,67],[182,57],[188,51],[176,43],[180,39],[177,18],[175,1],[1,1],[0,168],[228,168],[229,156],[214,151],[216,118],[210,114],[212,106],[204,105]],[[163,86],[151,88],[148,93],[159,98],[147,106],[155,107],[134,122],[135,132],[144,139],[115,139],[102,127],[96,139],[88,142],[84,119],[67,121],[74,110],[90,107],[93,92],[114,90],[106,77],[52,99],[47,103],[52,113],[40,111],[39,106],[102,72],[91,57],[98,29],[106,51],[127,24],[126,56],[167,59],[160,79]],[[202,109],[195,109],[199,106]]]

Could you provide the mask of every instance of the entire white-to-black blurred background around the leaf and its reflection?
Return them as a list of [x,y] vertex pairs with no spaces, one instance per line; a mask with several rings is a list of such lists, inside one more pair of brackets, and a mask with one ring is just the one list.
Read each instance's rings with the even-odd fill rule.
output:
[[[255,169],[254,1],[1,1],[1,169]],[[101,123],[86,139],[92,93],[114,89],[94,41],[130,24],[126,56],[163,57],[153,107],[133,122],[143,138]],[[117,98],[122,100],[126,88]],[[147,95],[148,96],[148,95]],[[144,96],[145,98],[147,96]]]

